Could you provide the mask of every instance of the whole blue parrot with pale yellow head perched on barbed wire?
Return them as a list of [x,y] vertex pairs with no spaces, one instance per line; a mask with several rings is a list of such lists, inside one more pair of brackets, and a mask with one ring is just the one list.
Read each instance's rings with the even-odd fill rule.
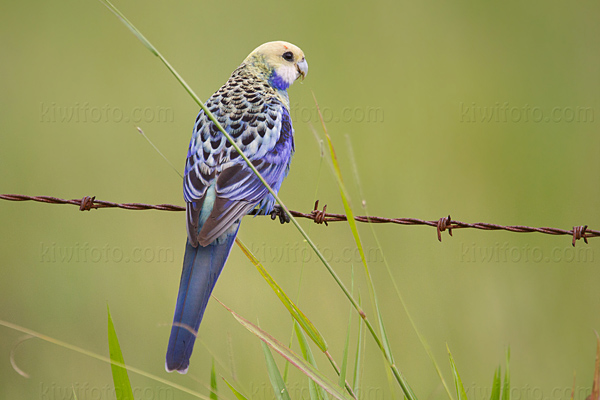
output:
[[[308,73],[302,50],[288,42],[254,49],[206,102],[224,130],[278,193],[294,154],[287,89]],[[208,299],[227,261],[241,218],[286,216],[275,198],[209,116],[200,110],[187,153],[183,195],[187,241],[167,347],[168,372],[188,371]],[[289,221],[289,220],[288,220]]]

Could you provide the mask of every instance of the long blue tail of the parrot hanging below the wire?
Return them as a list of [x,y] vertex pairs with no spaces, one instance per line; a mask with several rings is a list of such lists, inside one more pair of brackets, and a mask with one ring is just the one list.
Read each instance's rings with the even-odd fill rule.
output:
[[179,294],[167,348],[165,367],[168,372],[185,374],[188,370],[206,304],[236,235],[237,230],[205,247],[193,247],[189,241],[186,243]]

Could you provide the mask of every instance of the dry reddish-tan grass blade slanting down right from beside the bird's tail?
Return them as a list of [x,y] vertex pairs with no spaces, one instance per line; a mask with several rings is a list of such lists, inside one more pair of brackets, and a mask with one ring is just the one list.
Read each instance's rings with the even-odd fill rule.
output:
[[[221,303],[218,299],[215,298],[219,303]],[[310,379],[315,381],[315,383],[321,386],[323,389],[327,391],[327,393],[331,394],[333,397],[339,400],[352,400],[342,388],[333,383],[329,378],[319,372],[315,367],[304,361],[300,356],[294,353],[291,349],[283,345],[280,341],[275,339],[273,336],[269,335],[267,332],[257,327],[247,319],[238,315],[235,311],[221,303],[227,311],[233,315],[233,317],[247,330],[256,335],[260,340],[266,343],[270,348],[279,353],[283,358],[288,360],[290,364],[296,367],[300,372],[308,376]]]

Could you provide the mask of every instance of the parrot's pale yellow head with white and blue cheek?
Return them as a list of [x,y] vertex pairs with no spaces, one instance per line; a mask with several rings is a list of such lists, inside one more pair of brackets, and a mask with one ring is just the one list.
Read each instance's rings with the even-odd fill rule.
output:
[[304,52],[288,42],[262,44],[246,57],[244,63],[259,69],[278,90],[286,90],[296,79],[304,79],[308,74]]

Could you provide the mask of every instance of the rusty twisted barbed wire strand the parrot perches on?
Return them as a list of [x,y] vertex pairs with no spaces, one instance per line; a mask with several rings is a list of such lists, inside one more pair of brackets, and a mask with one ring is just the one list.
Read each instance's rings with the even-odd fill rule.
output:
[[[161,211],[185,211],[185,207],[177,206],[174,204],[143,204],[143,203],[114,203],[112,201],[96,200],[95,196],[85,196],[81,199],[60,199],[52,196],[27,196],[23,194],[0,194],[0,199],[9,201],[37,201],[48,204],[71,204],[79,206],[80,211],[89,211],[92,209],[100,208],[121,208],[125,210],[161,210]],[[315,202],[315,206],[310,213],[303,213],[300,211],[290,211],[294,217],[306,218],[313,220],[317,224],[328,225],[329,222],[342,222],[347,221],[348,218],[344,214],[333,214],[328,213],[327,206],[324,206],[322,210],[319,210],[319,201]],[[271,215],[272,219],[276,218],[276,215]],[[372,223],[372,224],[399,224],[399,225],[425,225],[436,228],[438,240],[442,241],[442,232],[448,231],[452,236],[453,229],[480,229],[484,231],[498,231],[504,230],[508,232],[519,232],[519,233],[531,233],[538,232],[546,235],[565,235],[573,238],[572,244],[575,246],[575,242],[579,239],[587,244],[588,238],[600,237],[600,231],[588,229],[587,225],[574,226],[570,230],[559,229],[559,228],[536,228],[531,226],[523,225],[497,225],[490,224],[487,222],[477,223],[466,223],[462,221],[453,220],[450,215],[442,217],[438,220],[428,221],[418,218],[385,218],[385,217],[374,217],[374,216],[356,216],[354,219],[358,222]]]

